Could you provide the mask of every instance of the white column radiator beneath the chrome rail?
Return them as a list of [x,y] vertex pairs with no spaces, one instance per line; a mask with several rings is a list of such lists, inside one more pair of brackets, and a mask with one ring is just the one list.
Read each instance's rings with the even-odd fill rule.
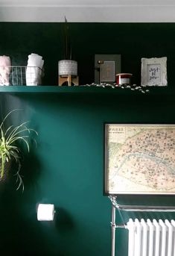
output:
[[175,256],[175,221],[129,219],[128,256]]

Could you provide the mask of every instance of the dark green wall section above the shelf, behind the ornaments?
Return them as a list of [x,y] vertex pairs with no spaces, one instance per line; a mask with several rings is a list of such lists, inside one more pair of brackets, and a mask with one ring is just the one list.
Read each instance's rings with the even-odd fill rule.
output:
[[[27,65],[28,54],[45,60],[43,84],[57,84],[57,62],[63,54],[63,23],[0,23],[0,54],[13,65]],[[141,57],[168,57],[168,83],[173,84],[174,23],[70,23],[72,57],[78,62],[80,84],[94,81],[95,54],[121,54],[121,72],[140,83]]]

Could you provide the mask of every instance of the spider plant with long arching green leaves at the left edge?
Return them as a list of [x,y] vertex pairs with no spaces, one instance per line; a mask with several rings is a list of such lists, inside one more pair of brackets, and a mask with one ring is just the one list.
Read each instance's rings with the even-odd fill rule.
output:
[[13,172],[16,175],[16,190],[19,190],[19,187],[24,190],[22,176],[20,175],[22,151],[19,142],[24,143],[29,152],[29,135],[32,131],[37,135],[37,132],[26,126],[28,122],[22,122],[16,126],[10,125],[5,128],[7,117],[14,111],[16,109],[7,113],[0,125],[0,182],[6,181],[10,173]]

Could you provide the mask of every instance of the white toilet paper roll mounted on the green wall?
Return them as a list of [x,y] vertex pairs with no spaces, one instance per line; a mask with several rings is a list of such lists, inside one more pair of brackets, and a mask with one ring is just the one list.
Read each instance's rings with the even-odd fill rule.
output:
[[54,205],[39,204],[37,210],[37,219],[39,221],[54,220]]

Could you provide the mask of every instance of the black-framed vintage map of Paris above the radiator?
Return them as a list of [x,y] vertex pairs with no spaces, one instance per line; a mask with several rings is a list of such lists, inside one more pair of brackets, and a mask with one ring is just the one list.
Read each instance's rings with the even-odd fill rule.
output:
[[105,124],[106,194],[175,193],[175,125]]

